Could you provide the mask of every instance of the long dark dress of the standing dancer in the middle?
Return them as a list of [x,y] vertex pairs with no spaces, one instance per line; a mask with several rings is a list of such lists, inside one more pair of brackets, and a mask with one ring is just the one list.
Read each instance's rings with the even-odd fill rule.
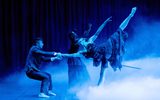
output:
[[[69,53],[76,53],[79,50],[79,44],[76,34],[69,34],[71,46]],[[80,57],[69,57],[68,58],[68,78],[69,86],[79,86],[85,84],[90,78],[86,66],[81,61]]]

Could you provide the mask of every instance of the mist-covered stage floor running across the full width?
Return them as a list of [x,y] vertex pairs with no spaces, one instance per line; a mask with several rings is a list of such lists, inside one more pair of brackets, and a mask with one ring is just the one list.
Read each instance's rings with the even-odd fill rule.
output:
[[97,87],[99,70],[92,63],[86,63],[93,86],[78,87],[77,94],[68,92],[67,67],[62,68],[64,64],[50,66],[52,69],[46,72],[53,73],[53,92],[57,96],[48,99],[38,97],[39,81],[29,79],[25,73],[12,74],[0,82],[0,100],[160,100],[160,58],[138,59],[124,64],[141,69],[124,67],[114,72],[109,67],[104,84]]

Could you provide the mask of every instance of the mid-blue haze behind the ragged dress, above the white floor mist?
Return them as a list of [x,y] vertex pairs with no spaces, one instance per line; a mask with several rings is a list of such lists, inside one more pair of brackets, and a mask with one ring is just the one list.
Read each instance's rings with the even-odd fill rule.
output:
[[127,42],[127,59],[160,56],[160,21],[145,17],[136,19],[132,34]]

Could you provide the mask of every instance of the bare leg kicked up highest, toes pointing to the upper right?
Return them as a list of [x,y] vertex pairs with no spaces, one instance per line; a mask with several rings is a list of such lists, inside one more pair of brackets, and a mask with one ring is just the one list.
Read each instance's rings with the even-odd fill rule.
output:
[[131,11],[131,13],[129,14],[129,16],[128,16],[128,17],[121,23],[121,25],[119,26],[120,29],[124,30],[124,29],[127,27],[130,19],[134,16],[136,10],[137,10],[137,7],[133,7],[133,8],[132,8],[132,11]]

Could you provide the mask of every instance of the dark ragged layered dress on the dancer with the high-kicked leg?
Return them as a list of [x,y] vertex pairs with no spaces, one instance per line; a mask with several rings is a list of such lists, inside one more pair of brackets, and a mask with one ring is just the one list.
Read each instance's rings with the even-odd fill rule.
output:
[[93,58],[93,65],[108,67],[108,61],[113,70],[121,69],[122,56],[125,52],[124,45],[128,34],[121,29],[118,29],[107,41],[101,45],[89,44],[87,52],[84,55],[88,58]]

